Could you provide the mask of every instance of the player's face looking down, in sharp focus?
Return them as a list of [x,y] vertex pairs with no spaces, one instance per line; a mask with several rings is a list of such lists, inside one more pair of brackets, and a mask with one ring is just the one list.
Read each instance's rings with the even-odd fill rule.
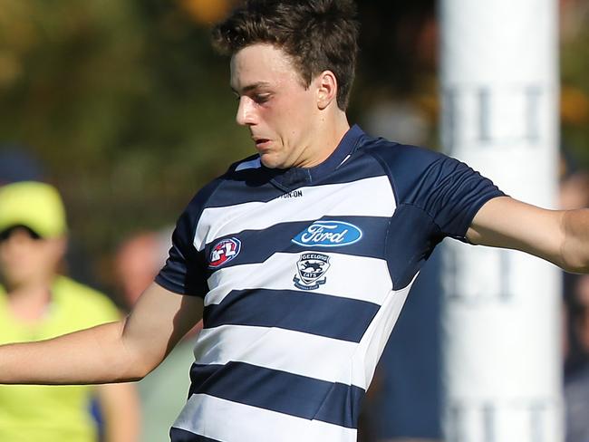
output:
[[305,87],[290,58],[270,44],[253,44],[231,59],[237,123],[246,126],[268,168],[312,167],[318,158],[317,95]]

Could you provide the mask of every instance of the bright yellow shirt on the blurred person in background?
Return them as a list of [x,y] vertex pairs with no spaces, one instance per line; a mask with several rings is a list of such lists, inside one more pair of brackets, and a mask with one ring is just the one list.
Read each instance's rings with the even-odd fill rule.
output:
[[[107,296],[64,276],[54,280],[38,322],[14,318],[7,302],[0,287],[0,343],[40,341],[120,318]],[[95,442],[92,394],[92,386],[0,385],[0,441]]]

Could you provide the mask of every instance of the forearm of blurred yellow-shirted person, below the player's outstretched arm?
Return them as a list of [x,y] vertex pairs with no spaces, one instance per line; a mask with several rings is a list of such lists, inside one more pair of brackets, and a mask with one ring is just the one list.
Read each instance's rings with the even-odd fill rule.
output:
[[101,384],[96,393],[104,421],[104,442],[139,442],[140,399],[135,384]]

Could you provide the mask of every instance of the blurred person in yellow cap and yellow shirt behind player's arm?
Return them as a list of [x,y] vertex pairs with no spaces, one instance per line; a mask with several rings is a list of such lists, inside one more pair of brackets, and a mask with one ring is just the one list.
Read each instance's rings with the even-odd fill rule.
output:
[[[120,319],[105,295],[58,274],[66,230],[54,187],[26,181],[0,187],[0,342],[41,341]],[[0,386],[0,440],[96,441],[94,397],[105,442],[138,440],[138,404],[129,384]]]

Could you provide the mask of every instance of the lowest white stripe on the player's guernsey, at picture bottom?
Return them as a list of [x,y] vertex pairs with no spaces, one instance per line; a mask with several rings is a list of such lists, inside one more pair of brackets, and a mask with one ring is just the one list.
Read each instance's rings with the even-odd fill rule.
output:
[[356,430],[204,394],[188,399],[174,428],[223,442],[355,442]]

